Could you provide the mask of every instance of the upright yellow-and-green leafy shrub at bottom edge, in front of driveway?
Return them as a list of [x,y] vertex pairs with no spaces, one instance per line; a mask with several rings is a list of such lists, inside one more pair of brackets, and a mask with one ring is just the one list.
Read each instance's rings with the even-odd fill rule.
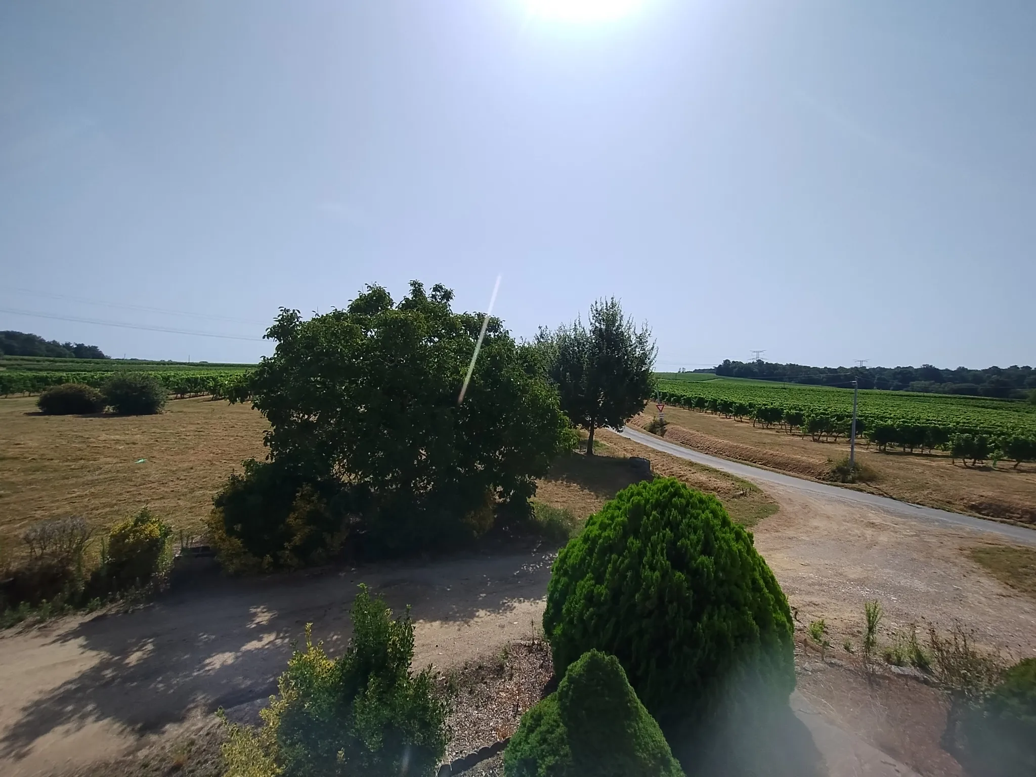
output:
[[332,659],[314,644],[296,650],[258,731],[230,726],[228,777],[397,777],[432,775],[445,751],[447,704],[431,667],[410,672],[413,624],[393,620],[361,586],[352,638]]

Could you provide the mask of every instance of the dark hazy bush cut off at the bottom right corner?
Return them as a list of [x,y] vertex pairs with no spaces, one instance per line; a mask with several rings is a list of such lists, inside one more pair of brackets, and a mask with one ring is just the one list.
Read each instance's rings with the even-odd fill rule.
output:
[[1036,658],[1006,672],[963,719],[968,757],[989,777],[1036,774]]

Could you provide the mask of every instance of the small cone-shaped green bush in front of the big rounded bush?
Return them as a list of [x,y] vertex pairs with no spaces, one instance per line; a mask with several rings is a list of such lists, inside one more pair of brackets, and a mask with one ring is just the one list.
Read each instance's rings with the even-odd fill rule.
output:
[[588,651],[522,716],[507,777],[682,777],[658,723],[614,656]]

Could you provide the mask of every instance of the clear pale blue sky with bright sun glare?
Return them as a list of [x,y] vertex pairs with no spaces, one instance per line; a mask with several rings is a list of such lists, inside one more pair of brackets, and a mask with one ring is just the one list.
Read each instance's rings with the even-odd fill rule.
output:
[[259,338],[501,274],[516,335],[614,294],[664,369],[1036,362],[1036,3],[626,2],[3,3],[0,308]]

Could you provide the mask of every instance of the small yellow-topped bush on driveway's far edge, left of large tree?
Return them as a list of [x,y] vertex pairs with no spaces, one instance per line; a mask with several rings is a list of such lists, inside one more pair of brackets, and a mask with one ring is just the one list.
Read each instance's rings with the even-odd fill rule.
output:
[[172,565],[173,527],[144,508],[108,534],[105,575],[117,588],[163,580]]

